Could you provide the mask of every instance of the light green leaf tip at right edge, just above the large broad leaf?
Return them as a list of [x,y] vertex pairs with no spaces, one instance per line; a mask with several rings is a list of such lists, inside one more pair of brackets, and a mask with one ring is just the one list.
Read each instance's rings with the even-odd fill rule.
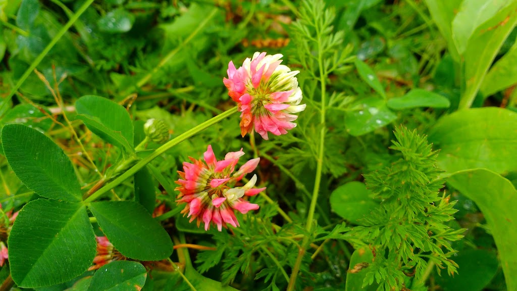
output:
[[492,66],[481,84],[481,92],[488,97],[517,83],[517,43]]

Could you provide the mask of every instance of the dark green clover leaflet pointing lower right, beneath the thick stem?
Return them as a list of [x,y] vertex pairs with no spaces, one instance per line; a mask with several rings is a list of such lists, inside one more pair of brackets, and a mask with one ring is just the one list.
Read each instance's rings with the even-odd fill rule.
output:
[[161,260],[172,254],[169,234],[139,203],[93,202],[89,209],[121,254],[139,260]]

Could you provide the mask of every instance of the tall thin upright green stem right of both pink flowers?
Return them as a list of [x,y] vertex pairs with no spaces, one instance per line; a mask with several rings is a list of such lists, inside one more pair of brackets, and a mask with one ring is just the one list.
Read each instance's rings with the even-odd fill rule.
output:
[[[318,25],[316,25],[316,39],[318,39],[318,66],[320,67],[320,84],[321,84],[321,92],[322,92],[322,100],[321,100],[321,112],[320,112],[320,147],[318,148],[318,158],[316,165],[316,177],[314,179],[314,191],[312,192],[311,205],[309,206],[309,213],[307,215],[307,224],[306,229],[307,232],[311,232],[312,230],[312,221],[314,219],[314,211],[316,209],[316,205],[318,202],[318,194],[320,194],[320,184],[322,179],[322,170],[323,170],[323,157],[325,153],[325,133],[326,133],[326,123],[325,123],[325,104],[326,104],[326,71],[323,63],[323,51],[321,45],[321,32],[319,30]],[[307,246],[309,245],[310,236],[306,236],[303,238],[303,241],[298,249],[298,257],[296,257],[296,263],[293,267],[293,272],[291,273],[291,278],[289,280],[289,284],[287,285],[287,291],[293,291],[296,284],[296,277],[298,276],[298,272],[300,271],[301,260],[303,255],[305,255],[305,251]]]

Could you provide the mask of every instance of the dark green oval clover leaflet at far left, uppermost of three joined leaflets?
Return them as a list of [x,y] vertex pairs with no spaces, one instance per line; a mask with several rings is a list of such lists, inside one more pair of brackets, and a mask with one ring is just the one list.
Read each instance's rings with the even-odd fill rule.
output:
[[2,129],[7,162],[16,176],[38,195],[81,201],[81,187],[67,155],[50,138],[21,124]]

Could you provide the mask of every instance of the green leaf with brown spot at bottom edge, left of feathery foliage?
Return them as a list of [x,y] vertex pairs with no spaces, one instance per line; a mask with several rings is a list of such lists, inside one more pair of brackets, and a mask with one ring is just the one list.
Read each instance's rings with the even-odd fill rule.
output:
[[362,263],[368,263],[371,264],[373,259],[372,251],[369,250],[366,247],[363,247],[361,249],[357,249],[352,254],[352,257],[350,258],[350,265],[348,267],[348,272],[346,273],[346,287],[345,291],[375,291],[377,290],[377,284],[372,284],[366,287],[362,287],[364,282],[364,277],[366,276],[366,272],[368,272],[368,269],[362,269],[356,273],[352,273],[351,270],[354,269],[354,267],[357,264]]

